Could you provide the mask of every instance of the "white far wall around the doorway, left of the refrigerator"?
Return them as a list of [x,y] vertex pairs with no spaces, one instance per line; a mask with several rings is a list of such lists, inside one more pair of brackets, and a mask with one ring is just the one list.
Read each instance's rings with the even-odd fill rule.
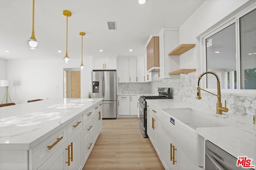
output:
[[[81,70],[81,98],[91,88],[92,57],[84,57]],[[12,102],[26,103],[38,98],[63,98],[63,68],[79,68],[81,60],[7,60],[6,77],[14,81],[10,89]]]

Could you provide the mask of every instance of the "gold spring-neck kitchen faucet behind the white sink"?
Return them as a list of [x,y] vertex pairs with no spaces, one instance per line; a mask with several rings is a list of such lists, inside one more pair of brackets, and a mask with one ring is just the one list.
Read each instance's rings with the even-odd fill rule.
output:
[[[216,94],[213,94],[213,93],[211,93],[211,92],[208,92],[207,90],[204,90],[204,89],[200,88],[199,82],[200,82],[200,80],[202,79],[202,76],[203,76],[204,74],[213,74],[213,75],[216,77],[216,79],[217,79],[217,95],[216,95]],[[201,92],[200,92],[200,90],[203,90],[203,91],[208,92],[208,93],[210,93],[210,94],[212,94],[212,95],[214,95],[214,96],[217,96],[217,99],[218,99],[218,102],[217,102],[217,104],[216,104],[216,113],[217,113],[217,114],[222,114],[222,111],[228,112],[227,101],[226,101],[226,100],[225,100],[225,107],[222,107],[222,103],[221,103],[221,94],[220,94],[220,78],[219,78],[218,74],[216,74],[216,73],[213,72],[213,71],[206,71],[206,72],[203,72],[203,73],[198,77],[197,97],[196,97],[196,99],[198,99],[198,100],[202,99],[202,98],[201,98]]]

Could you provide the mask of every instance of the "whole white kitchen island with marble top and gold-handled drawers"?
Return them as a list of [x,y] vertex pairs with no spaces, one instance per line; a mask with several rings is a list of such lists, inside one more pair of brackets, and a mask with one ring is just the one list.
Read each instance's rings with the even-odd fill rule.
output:
[[0,108],[0,169],[82,169],[102,129],[102,99]]

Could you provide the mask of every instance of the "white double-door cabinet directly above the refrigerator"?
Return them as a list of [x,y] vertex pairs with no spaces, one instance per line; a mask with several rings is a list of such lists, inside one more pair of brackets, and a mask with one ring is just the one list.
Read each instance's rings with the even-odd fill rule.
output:
[[116,70],[116,56],[94,56],[92,57],[93,70]]

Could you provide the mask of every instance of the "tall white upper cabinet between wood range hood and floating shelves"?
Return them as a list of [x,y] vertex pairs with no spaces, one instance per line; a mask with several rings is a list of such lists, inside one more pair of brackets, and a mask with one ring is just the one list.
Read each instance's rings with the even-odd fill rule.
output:
[[179,78],[179,75],[169,75],[179,69],[179,56],[169,56],[170,49],[179,43],[178,28],[163,28],[159,33],[159,76],[160,78]]

